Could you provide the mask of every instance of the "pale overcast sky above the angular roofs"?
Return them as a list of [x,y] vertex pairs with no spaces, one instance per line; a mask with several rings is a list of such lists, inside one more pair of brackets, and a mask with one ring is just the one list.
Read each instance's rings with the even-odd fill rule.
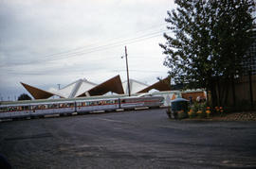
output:
[[152,84],[167,76],[165,42],[173,0],[0,0],[0,97],[48,90],[79,78],[101,83],[120,75]]

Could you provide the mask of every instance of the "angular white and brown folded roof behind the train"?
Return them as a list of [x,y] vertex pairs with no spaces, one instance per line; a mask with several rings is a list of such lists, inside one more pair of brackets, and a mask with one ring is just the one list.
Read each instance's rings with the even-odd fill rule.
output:
[[[145,83],[139,82],[135,79],[130,79],[130,91],[131,93],[148,93],[155,91],[171,91],[170,78],[167,77],[163,80],[155,82],[153,85],[147,85]],[[123,94],[128,92],[127,81],[121,82],[119,76],[114,76],[101,84],[96,84],[83,79],[78,79],[62,89],[50,88],[48,91],[30,86],[28,84],[21,84],[26,88],[27,92],[30,93],[35,99],[46,99],[53,95],[60,96],[62,98],[75,98],[93,95],[103,95],[103,94]]]

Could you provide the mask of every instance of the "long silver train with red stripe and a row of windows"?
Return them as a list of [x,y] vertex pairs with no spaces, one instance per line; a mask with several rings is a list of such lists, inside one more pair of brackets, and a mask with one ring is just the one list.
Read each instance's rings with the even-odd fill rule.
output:
[[44,100],[40,102],[9,102],[0,105],[0,119],[15,119],[24,117],[40,117],[50,114],[79,114],[99,110],[131,110],[141,107],[162,106],[164,97],[120,97],[97,99],[69,99],[69,100]]

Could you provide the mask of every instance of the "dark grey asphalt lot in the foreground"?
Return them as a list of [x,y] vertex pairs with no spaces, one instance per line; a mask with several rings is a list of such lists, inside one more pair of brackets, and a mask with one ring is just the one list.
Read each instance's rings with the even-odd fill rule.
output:
[[0,123],[13,168],[255,168],[255,122],[138,110]]

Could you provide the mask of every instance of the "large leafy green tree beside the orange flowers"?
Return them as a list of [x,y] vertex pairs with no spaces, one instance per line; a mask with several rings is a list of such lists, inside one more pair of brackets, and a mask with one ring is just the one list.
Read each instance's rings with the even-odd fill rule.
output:
[[175,4],[177,8],[165,19],[173,35],[164,33],[167,42],[159,44],[167,55],[164,65],[175,83],[205,88],[212,101],[219,100],[213,105],[223,104],[216,96],[224,98],[224,91],[216,91],[215,86],[220,79],[230,81],[241,74],[241,62],[252,42],[255,2],[175,0]]

